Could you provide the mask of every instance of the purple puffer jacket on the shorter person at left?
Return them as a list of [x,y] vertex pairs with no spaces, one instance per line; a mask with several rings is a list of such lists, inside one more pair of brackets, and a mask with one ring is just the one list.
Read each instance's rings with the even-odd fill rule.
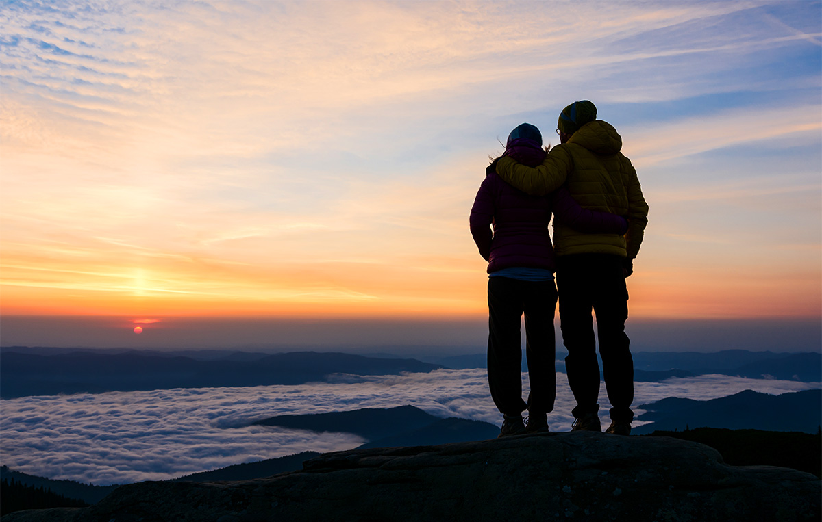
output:
[[[579,231],[625,234],[627,222],[623,217],[581,208],[565,188],[545,196],[527,195],[503,181],[496,174],[495,164],[486,169],[470,219],[471,235],[479,254],[488,261],[488,273],[502,268],[553,271],[554,249],[548,232],[552,213]],[[493,234],[489,227],[492,223]]]

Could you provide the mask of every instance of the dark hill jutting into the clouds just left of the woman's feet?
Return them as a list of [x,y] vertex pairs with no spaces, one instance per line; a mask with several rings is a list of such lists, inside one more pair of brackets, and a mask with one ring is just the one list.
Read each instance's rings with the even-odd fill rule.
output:
[[253,424],[353,433],[368,439],[360,447],[431,446],[485,440],[500,433],[500,428],[494,424],[455,417],[440,419],[410,405],[327,414],[279,415]]

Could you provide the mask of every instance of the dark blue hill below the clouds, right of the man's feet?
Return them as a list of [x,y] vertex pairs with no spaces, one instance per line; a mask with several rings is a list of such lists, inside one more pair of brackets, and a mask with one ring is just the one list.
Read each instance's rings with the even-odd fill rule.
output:
[[822,424],[822,390],[779,396],[746,390],[710,401],[669,397],[637,408],[647,410],[637,420],[653,423],[633,428],[636,435],[686,428],[817,433]]

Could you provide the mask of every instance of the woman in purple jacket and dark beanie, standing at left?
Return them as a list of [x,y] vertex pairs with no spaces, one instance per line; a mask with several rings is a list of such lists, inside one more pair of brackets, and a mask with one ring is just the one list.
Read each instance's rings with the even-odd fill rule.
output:
[[[537,127],[511,131],[503,155],[536,167],[547,151]],[[547,432],[556,397],[554,250],[551,215],[583,232],[625,234],[623,217],[581,208],[568,190],[530,196],[486,169],[471,208],[471,235],[488,261],[488,385],[503,414],[500,437]],[[493,224],[493,233],[490,225]],[[525,314],[525,357],[531,392],[522,399],[520,318]],[[522,412],[528,410],[523,423]],[[527,425],[526,425],[527,424]]]

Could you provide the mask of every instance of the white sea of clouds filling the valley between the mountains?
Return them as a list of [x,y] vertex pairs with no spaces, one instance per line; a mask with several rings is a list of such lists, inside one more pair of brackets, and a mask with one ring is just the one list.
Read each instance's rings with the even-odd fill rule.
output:
[[[565,373],[556,378],[556,406],[548,421],[552,431],[567,431],[575,401]],[[701,375],[637,382],[634,404],[669,396],[709,400],[748,389],[778,395],[818,387],[820,383]],[[526,381],[525,394],[527,390]],[[607,416],[604,387],[600,404],[600,414]],[[298,386],[30,396],[0,401],[0,462],[27,474],[98,485],[172,479],[300,451],[348,450],[366,442],[348,433],[247,426],[253,420],[399,405],[439,417],[501,424],[484,369],[336,375],[330,382]],[[604,417],[603,423],[607,425]]]

